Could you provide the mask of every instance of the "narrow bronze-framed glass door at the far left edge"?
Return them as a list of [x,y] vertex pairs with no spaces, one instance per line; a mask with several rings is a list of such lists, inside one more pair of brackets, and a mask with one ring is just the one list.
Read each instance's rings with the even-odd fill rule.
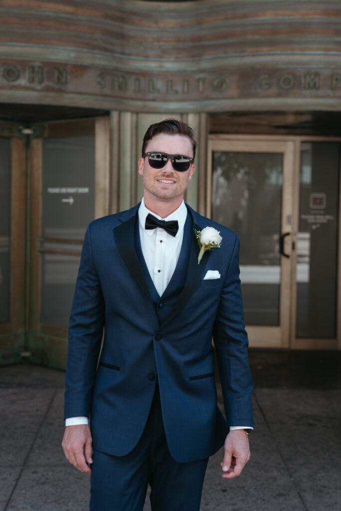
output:
[[0,122],[0,364],[25,350],[26,141]]

